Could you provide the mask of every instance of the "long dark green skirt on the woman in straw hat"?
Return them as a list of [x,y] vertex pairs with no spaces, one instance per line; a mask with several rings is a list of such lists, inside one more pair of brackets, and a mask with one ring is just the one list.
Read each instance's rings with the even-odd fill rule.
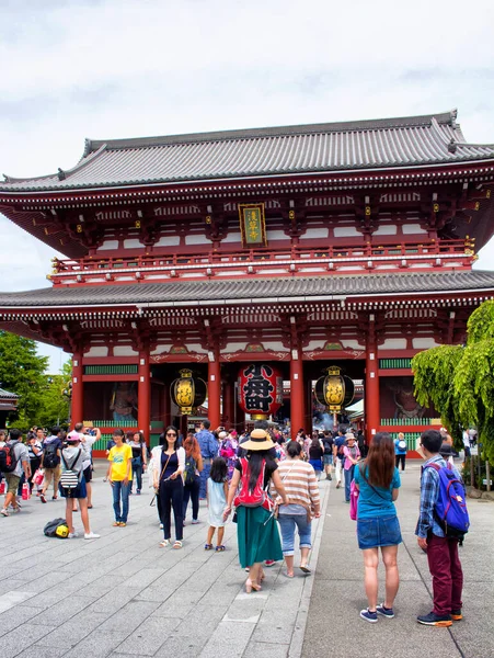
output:
[[262,507],[237,508],[237,538],[240,566],[245,568],[265,559],[283,559],[276,519]]

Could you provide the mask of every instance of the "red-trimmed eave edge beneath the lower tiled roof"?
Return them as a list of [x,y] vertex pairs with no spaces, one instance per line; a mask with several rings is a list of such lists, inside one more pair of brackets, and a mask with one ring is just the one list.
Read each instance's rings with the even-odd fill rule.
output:
[[[461,295],[461,296],[460,296]],[[135,305],[101,304],[82,306],[4,306],[0,307],[0,322],[13,321],[18,318],[57,319],[94,319],[110,317],[148,317],[159,314],[185,315],[194,311],[197,316],[214,314],[216,308],[243,307],[244,313],[259,313],[269,306],[272,309],[286,310],[286,307],[311,309],[319,305],[334,303],[344,307],[358,306],[361,309],[383,308],[387,306],[444,304],[450,306],[470,305],[471,302],[482,302],[494,298],[494,286],[491,288],[453,290],[453,291],[421,291],[397,293],[358,293],[346,295],[302,295],[296,297],[252,297],[241,299],[188,300],[188,302],[146,302]]]

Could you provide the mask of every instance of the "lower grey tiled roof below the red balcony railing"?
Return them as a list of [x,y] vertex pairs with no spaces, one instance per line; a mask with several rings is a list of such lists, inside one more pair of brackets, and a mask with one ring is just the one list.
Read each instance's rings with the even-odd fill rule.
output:
[[0,293],[0,316],[12,308],[100,305],[181,306],[248,302],[318,302],[331,296],[386,296],[407,293],[467,293],[494,291],[494,272],[325,275],[291,279],[242,279],[101,286],[51,287]]

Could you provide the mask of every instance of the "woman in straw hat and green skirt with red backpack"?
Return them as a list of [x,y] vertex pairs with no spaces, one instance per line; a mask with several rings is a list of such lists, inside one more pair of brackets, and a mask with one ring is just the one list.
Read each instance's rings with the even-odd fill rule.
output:
[[[269,509],[271,499],[265,492],[269,481],[284,503],[288,503],[288,498],[277,470],[278,465],[269,455],[274,443],[267,432],[253,430],[242,447],[248,451],[246,457],[237,460],[223,517],[228,518],[235,499],[239,559],[243,568],[250,567],[245,582],[249,593],[261,589],[264,577],[262,563],[283,559],[278,527]],[[240,484],[240,494],[235,498]]]

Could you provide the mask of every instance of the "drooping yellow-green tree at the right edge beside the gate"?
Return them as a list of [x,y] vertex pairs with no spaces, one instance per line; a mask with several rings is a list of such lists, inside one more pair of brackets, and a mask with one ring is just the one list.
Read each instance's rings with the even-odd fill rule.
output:
[[476,427],[483,455],[494,462],[494,302],[467,324],[466,345],[441,345],[412,360],[415,395],[432,401],[458,444],[461,427]]

